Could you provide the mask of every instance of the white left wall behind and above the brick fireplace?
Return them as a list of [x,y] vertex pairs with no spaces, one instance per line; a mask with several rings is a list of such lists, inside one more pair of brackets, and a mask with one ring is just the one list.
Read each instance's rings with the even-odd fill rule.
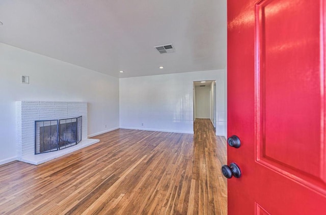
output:
[[[20,84],[20,75],[30,84]],[[88,135],[119,127],[119,79],[0,43],[0,164],[16,158],[15,101],[88,102]],[[106,127],[105,127],[106,125]]]

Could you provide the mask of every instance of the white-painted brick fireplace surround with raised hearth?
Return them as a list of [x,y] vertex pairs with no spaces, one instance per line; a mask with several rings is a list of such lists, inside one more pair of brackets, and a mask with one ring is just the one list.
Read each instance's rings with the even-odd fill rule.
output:
[[[35,154],[35,122],[51,119],[83,117],[82,141],[59,151]],[[16,141],[18,160],[29,164],[42,164],[80,148],[98,143],[87,138],[87,102],[16,101]]]

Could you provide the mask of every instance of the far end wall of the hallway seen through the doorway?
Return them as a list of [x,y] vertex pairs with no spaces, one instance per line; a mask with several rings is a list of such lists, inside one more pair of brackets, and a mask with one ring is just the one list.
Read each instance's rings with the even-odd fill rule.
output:
[[195,88],[196,118],[210,119],[210,86]]

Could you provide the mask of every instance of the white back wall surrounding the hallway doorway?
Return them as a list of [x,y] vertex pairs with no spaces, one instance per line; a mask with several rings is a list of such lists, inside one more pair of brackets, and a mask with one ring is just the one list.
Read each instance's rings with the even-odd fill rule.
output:
[[226,70],[120,78],[120,127],[193,133],[201,80],[216,80],[216,135],[226,136]]

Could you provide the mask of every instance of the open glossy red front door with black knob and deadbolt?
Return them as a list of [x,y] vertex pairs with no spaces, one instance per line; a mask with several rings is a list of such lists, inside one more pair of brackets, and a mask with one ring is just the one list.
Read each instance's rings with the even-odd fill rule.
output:
[[228,0],[228,212],[326,214],[326,0]]

